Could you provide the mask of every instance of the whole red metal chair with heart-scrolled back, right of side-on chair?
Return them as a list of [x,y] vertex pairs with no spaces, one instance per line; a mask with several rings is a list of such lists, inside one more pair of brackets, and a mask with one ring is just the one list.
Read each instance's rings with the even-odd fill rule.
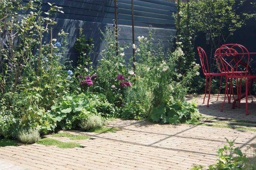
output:
[[[225,103],[225,98],[228,93],[227,82],[229,79],[239,79],[237,83],[237,93],[239,96],[239,108],[241,102],[241,81],[245,80],[245,100],[246,100],[246,115],[248,115],[248,82],[255,79],[255,75],[248,74],[248,65],[250,61],[249,51],[242,45],[239,44],[225,44],[222,45],[217,53],[218,59],[221,61],[220,70],[221,73],[226,74],[226,90],[224,95],[224,102],[221,105],[221,111]],[[246,65],[241,65],[241,62]],[[238,82],[238,81],[237,81]],[[238,90],[239,89],[239,90]]]

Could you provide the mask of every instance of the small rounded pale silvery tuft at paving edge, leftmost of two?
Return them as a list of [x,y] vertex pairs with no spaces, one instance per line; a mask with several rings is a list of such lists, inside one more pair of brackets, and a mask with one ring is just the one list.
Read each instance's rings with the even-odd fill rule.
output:
[[32,144],[40,139],[39,131],[36,129],[20,130],[17,133],[17,139],[25,144]]

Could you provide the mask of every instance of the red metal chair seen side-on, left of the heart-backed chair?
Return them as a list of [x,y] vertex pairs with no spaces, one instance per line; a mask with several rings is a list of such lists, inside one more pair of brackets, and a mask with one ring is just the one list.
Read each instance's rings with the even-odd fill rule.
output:
[[[206,77],[204,100],[205,100],[205,97],[206,97],[206,94],[207,94],[207,84],[208,84],[207,82],[208,82],[208,78],[209,78],[209,94],[208,94],[208,101],[207,101],[207,107],[209,107],[212,77],[221,77],[221,81],[222,81],[222,76],[226,76],[226,74],[225,73],[210,73],[208,59],[207,59],[207,55],[206,55],[204,49],[201,48],[201,47],[198,47],[197,49],[198,49],[198,54],[199,54],[199,58],[200,58],[200,61],[201,61],[202,70],[203,70],[204,76]],[[220,92],[221,92],[221,82],[220,82],[220,88],[219,88],[218,96],[220,95]],[[217,97],[217,100],[218,100],[218,97]],[[203,101],[203,104],[204,104],[204,101]]]

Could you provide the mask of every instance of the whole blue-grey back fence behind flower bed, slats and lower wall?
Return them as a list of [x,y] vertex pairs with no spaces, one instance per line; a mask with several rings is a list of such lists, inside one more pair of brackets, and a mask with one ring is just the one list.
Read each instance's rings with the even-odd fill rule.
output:
[[[23,0],[28,1],[28,0]],[[68,49],[66,57],[76,63],[77,51],[74,48],[76,38],[79,36],[79,28],[87,38],[94,40],[94,53],[91,58],[94,65],[100,59],[99,52],[104,48],[102,35],[99,29],[104,30],[105,26],[112,27],[115,19],[114,0],[43,0],[42,9],[47,11],[49,3],[55,3],[62,7],[64,14],[56,15],[57,24],[53,26],[53,38],[58,38],[58,32],[63,29],[69,33]],[[155,29],[154,42],[163,40],[166,48],[171,48],[169,41],[175,36],[175,23],[172,14],[177,12],[175,3],[163,0],[134,0],[134,25],[137,43],[138,36],[147,37],[148,27]],[[118,0],[117,3],[118,27],[121,29],[118,40],[120,43],[132,43],[131,29],[131,0]],[[45,35],[45,41],[50,41],[50,35]],[[126,57],[131,57],[132,48],[125,51]],[[128,60],[127,58],[127,60]]]

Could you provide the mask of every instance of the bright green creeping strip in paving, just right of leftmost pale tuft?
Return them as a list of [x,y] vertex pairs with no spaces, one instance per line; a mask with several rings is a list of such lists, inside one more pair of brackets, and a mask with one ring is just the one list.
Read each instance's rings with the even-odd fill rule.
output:
[[57,146],[60,148],[74,148],[74,147],[82,147],[80,144],[75,142],[61,142],[56,139],[44,138],[40,139],[36,142],[37,144],[42,144],[45,146]]

